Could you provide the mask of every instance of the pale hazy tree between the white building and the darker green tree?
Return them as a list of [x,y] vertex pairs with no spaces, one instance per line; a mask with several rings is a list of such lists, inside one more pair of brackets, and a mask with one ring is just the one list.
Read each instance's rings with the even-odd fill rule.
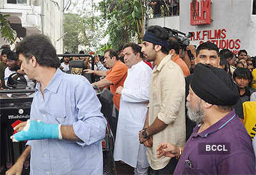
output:
[[[67,13],[64,19],[65,50],[76,52],[78,46],[85,47],[85,52],[97,51],[101,47],[100,40],[104,38],[104,23],[96,15],[95,4],[92,1],[74,1],[72,7],[77,13]],[[96,13],[95,13],[96,12]]]

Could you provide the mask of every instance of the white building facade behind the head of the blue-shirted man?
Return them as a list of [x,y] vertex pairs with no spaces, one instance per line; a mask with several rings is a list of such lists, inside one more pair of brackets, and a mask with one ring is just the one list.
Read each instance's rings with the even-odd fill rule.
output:
[[[54,3],[55,2],[55,3]],[[64,0],[0,0],[0,12],[10,15],[10,25],[17,36],[45,34],[51,39],[58,54],[63,53]],[[0,45],[6,43],[0,34]]]

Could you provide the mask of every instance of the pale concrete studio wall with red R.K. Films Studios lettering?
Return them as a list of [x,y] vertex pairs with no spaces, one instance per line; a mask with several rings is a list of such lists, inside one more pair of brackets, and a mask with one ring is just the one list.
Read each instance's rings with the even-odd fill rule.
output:
[[[184,33],[194,32],[195,38],[191,38],[193,45],[209,40],[218,44],[220,49],[227,48],[235,53],[246,49],[250,56],[256,56],[256,15],[252,15],[252,0],[212,0],[212,22],[202,26],[190,25],[190,3],[191,0],[180,0],[179,17],[150,19],[148,26],[159,25]],[[215,38],[214,33],[219,30],[221,38]]]

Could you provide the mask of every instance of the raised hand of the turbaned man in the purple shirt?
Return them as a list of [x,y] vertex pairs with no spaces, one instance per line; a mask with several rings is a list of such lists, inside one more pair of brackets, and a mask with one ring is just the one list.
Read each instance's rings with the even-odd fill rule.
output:
[[161,158],[162,156],[175,157],[179,152],[179,147],[170,143],[161,143],[156,151],[157,158]]

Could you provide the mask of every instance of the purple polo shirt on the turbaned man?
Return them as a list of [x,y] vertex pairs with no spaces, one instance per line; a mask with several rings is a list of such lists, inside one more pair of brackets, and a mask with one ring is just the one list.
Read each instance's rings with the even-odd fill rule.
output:
[[194,128],[174,174],[256,174],[252,139],[234,110],[204,132]]

